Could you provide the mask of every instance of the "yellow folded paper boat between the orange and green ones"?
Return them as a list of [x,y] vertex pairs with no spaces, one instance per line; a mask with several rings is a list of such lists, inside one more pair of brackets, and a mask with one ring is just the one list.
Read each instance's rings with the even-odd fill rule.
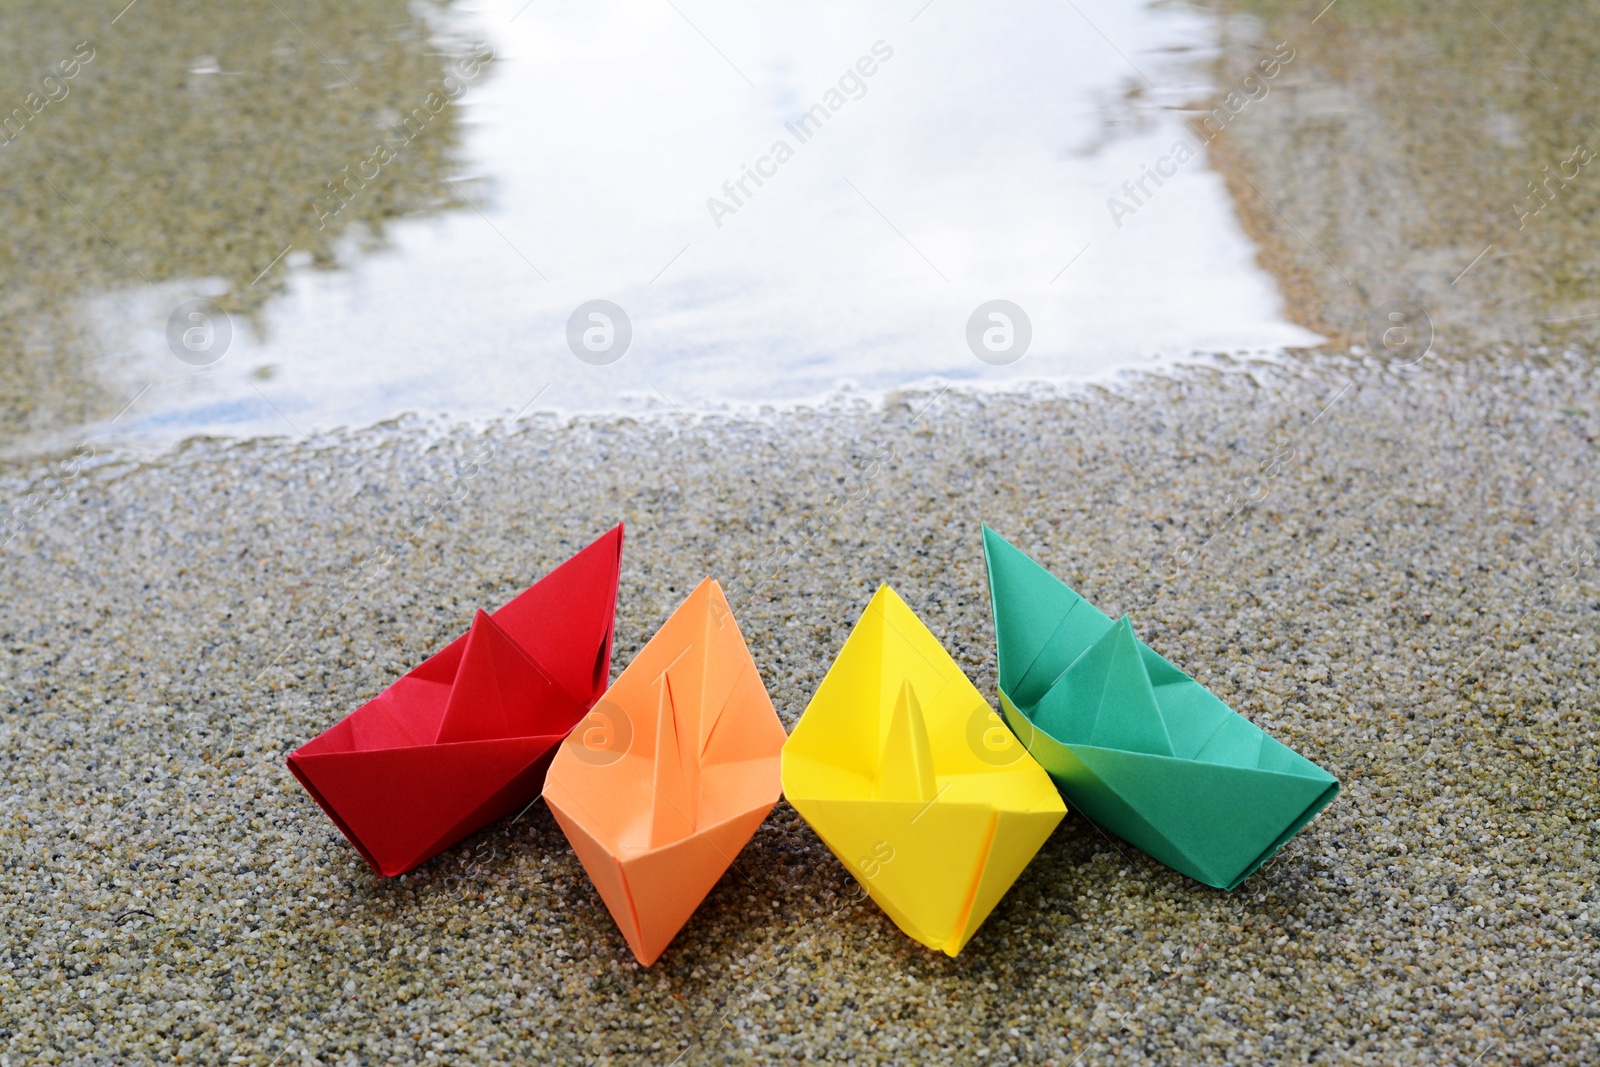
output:
[[1067,813],[888,585],[784,745],[784,795],[896,926],[952,957]]

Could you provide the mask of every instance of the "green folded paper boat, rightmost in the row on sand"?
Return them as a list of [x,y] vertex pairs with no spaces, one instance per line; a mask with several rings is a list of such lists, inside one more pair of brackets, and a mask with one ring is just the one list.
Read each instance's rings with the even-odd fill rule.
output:
[[984,526],[1000,709],[1067,798],[1190,878],[1232,889],[1339,781],[1213,696]]

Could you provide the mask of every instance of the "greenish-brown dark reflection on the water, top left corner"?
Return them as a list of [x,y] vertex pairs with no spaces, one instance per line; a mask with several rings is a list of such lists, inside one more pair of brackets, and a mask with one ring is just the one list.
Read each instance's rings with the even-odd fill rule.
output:
[[[291,262],[333,267],[341,242],[374,253],[394,219],[446,206],[453,107],[429,114],[341,211],[315,210],[328,182],[342,187],[346,168],[406,128],[402,107],[426,110],[474,61],[438,14],[378,0],[141,3],[120,16],[86,2],[8,6],[0,445],[109,422],[141,382],[192,374],[165,352],[179,302],[214,298],[237,333],[270,344],[264,309]],[[72,59],[78,69],[61,78]],[[50,91],[51,77],[64,91]],[[34,96],[45,106],[34,110]],[[101,314],[86,314],[90,298]],[[240,378],[251,373],[270,374]]]

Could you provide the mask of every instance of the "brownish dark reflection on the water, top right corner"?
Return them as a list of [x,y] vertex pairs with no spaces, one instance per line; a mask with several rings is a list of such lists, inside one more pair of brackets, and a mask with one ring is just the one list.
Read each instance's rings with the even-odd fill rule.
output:
[[1600,341],[1592,5],[1224,6],[1251,16],[1224,66],[1299,53],[1214,150],[1296,322],[1366,342],[1410,299],[1443,350]]

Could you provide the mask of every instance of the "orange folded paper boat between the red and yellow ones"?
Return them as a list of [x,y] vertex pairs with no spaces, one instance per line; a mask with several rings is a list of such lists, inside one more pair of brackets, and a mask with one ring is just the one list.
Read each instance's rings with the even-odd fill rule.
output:
[[544,801],[645,966],[778,803],[782,745],[782,723],[710,577],[562,744]]

